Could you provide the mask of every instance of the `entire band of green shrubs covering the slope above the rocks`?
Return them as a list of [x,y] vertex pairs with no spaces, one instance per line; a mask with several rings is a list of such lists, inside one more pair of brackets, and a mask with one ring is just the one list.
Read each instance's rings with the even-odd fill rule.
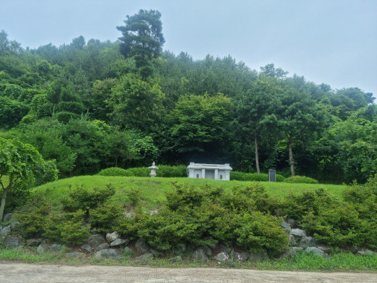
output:
[[260,182],[194,186],[172,179],[153,212],[142,187],[135,186],[140,180],[131,181],[130,187],[121,188],[122,194],[114,184],[92,189],[71,186],[53,201],[40,191],[15,215],[20,233],[79,244],[96,227],[102,232],[118,231],[131,240],[145,238],[161,250],[223,243],[247,250],[264,248],[276,255],[287,247],[281,221],[292,217],[324,244],[377,248],[376,177],[343,189],[340,196],[318,187],[286,197],[270,194]]

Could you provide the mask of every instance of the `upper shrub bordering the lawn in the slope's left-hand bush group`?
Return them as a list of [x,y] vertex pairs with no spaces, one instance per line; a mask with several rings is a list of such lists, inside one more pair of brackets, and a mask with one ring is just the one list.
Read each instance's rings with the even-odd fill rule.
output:
[[105,203],[114,194],[115,188],[112,184],[107,184],[103,188],[94,188],[93,191],[84,187],[76,187],[76,189],[69,191],[68,197],[63,198],[61,203],[68,212],[83,210],[89,215],[90,209],[97,208],[98,205]]

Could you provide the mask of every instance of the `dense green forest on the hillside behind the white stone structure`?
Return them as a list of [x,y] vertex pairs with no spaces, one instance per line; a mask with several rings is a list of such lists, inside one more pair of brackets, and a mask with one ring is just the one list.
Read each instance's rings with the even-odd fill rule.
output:
[[[268,64],[163,50],[161,14],[127,17],[119,41],[24,49],[0,32],[0,136],[56,159],[59,177],[189,161],[366,182],[377,106]],[[116,27],[114,27],[115,29]]]

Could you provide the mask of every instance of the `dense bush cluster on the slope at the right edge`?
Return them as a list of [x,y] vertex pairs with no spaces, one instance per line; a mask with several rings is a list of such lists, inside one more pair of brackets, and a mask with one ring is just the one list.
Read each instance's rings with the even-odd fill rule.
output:
[[367,185],[353,184],[340,199],[323,189],[288,196],[283,210],[327,245],[377,248],[377,196]]

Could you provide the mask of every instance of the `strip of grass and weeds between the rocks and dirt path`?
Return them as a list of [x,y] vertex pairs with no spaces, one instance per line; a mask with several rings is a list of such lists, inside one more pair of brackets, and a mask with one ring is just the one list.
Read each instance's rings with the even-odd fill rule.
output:
[[367,271],[377,270],[377,256],[355,256],[350,253],[332,254],[330,259],[323,259],[315,254],[296,254],[290,259],[272,259],[269,261],[235,261],[230,264],[219,264],[218,261],[191,261],[190,259],[153,259],[150,261],[138,261],[131,254],[123,254],[119,259],[93,259],[88,256],[72,258],[65,252],[45,252],[37,254],[35,248],[29,249],[0,249],[0,260],[27,261],[34,263],[59,263],[68,265],[106,265],[106,266],[149,266],[160,268],[258,268],[260,270],[308,270],[308,271]]

